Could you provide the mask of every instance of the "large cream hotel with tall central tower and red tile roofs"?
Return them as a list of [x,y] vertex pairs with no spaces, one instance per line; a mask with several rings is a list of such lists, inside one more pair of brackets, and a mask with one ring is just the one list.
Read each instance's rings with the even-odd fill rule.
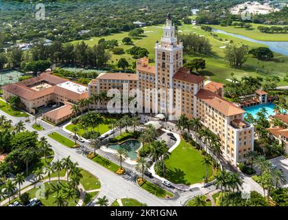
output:
[[[221,83],[204,85],[204,77],[183,67],[182,42],[178,43],[170,16],[163,29],[163,37],[155,45],[155,66],[149,65],[148,58],[141,58],[136,63],[136,74],[101,74],[88,85],[88,96],[108,89],[122,90],[123,83],[128,83],[129,89],[142,92],[145,113],[158,111],[169,115],[169,120],[176,120],[176,113],[200,118],[204,126],[219,135],[226,159],[232,164],[242,162],[254,150],[254,127],[244,121],[245,111],[221,97]],[[147,89],[154,90],[147,94]]]

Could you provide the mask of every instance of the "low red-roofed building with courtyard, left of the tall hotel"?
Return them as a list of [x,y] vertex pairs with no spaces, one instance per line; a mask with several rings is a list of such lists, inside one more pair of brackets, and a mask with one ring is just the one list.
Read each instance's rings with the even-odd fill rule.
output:
[[2,88],[5,100],[9,100],[12,96],[18,96],[21,106],[29,113],[36,113],[36,109],[47,107],[51,102],[61,106],[43,114],[45,120],[54,124],[71,118],[71,105],[76,104],[80,99],[88,98],[86,86],[53,76],[51,72],[45,72],[38,77],[19,83],[5,85]]

